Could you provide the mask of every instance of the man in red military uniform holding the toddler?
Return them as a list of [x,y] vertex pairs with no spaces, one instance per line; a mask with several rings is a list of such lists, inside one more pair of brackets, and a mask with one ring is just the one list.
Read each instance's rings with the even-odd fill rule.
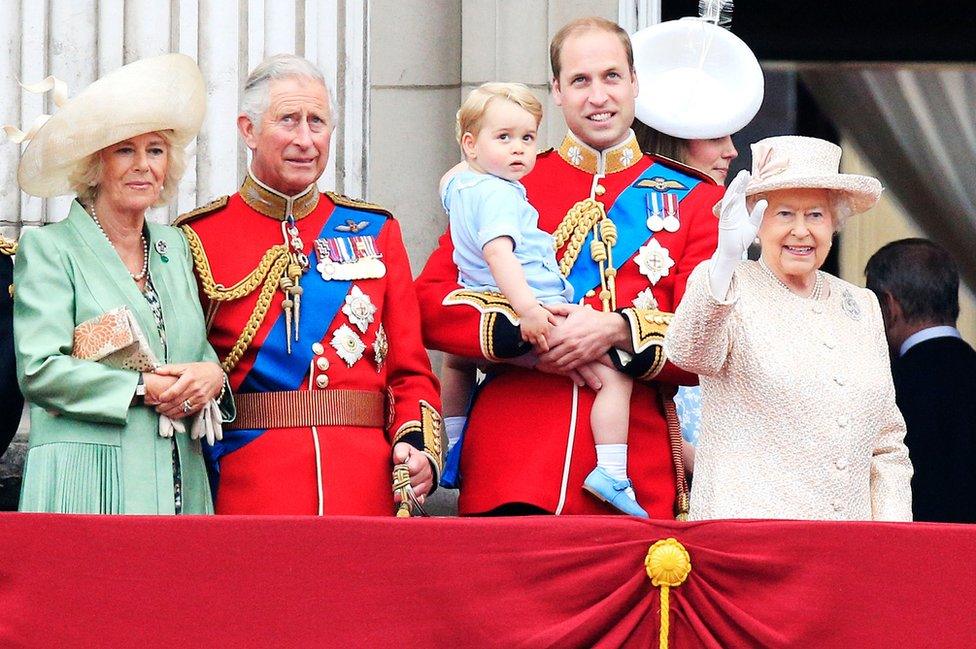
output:
[[[550,58],[569,131],[522,182],[582,305],[558,307],[565,320],[548,352],[489,370],[463,440],[459,509],[613,511],[582,488],[595,465],[594,392],[578,385],[585,364],[609,352],[636,379],[627,467],[637,500],[651,517],[672,518],[687,511],[687,487],[671,396],[695,377],[667,363],[661,343],[688,275],[715,250],[711,210],[722,189],[640,151],[630,130],[633,53],[617,25],[574,21],[553,38]],[[503,296],[459,288],[452,252],[445,234],[417,280],[427,345],[488,361],[531,351]]]

